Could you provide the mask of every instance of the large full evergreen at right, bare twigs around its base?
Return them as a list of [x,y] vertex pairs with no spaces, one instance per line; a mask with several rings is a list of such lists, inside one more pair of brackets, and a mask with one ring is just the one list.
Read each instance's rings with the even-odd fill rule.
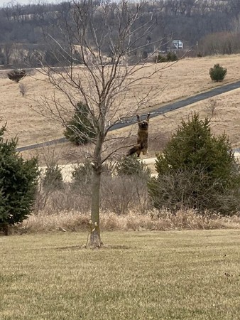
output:
[[223,214],[239,207],[240,171],[226,134],[214,137],[209,119],[193,114],[156,160],[157,178],[148,183],[156,208],[181,207]]

